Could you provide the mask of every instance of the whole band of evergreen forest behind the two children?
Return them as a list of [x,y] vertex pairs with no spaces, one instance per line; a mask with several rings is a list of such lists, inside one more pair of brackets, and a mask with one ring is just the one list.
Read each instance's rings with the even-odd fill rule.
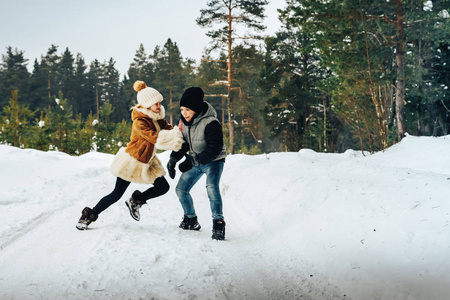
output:
[[[244,2],[266,4],[236,5],[249,9]],[[30,73],[24,52],[8,47],[0,143],[115,153],[129,139],[135,80],[161,92],[175,124],[183,90],[202,87],[234,153],[377,151],[405,132],[450,134],[446,9],[446,0],[287,1],[282,28],[263,43],[206,51],[201,62],[183,58],[170,39],[151,54],[141,45],[122,79],[113,58],[88,65],[55,45]]]

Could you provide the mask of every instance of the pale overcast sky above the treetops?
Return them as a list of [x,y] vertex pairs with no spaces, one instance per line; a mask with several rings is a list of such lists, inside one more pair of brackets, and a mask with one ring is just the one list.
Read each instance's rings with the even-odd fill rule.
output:
[[[66,47],[74,58],[81,53],[89,65],[113,58],[121,78],[142,43],[147,54],[168,38],[184,58],[201,59],[210,43],[195,22],[207,0],[0,0],[0,54],[6,47],[24,51],[31,71],[52,44],[58,55]],[[277,8],[285,0],[269,0],[266,35],[281,26]]]

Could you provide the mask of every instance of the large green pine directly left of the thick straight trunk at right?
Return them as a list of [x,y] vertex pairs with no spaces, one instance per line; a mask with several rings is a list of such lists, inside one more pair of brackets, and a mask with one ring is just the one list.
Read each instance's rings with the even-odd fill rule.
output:
[[[323,65],[338,76],[331,81],[335,84],[328,84],[334,111],[353,128],[361,149],[367,142],[371,151],[386,147],[386,112],[392,99],[387,87],[398,77],[392,72],[394,43],[382,34],[389,29],[395,35],[395,27],[379,18],[381,12],[389,12],[386,5],[390,4],[305,1],[301,6],[289,5],[282,15],[289,24],[301,27],[320,51]],[[403,130],[401,125],[398,128]]]

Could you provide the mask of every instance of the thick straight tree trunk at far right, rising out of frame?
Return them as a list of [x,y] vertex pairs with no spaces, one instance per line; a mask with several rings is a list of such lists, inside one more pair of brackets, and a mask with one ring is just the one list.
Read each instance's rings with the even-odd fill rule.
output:
[[404,119],[405,103],[405,44],[404,44],[404,25],[403,25],[403,4],[402,0],[395,0],[397,10],[397,88],[395,90],[395,111],[397,117],[398,140],[401,141],[406,133]]

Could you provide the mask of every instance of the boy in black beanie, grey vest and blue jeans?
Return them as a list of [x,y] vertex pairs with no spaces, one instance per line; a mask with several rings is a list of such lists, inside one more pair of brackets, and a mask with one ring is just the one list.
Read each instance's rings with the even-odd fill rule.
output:
[[223,143],[222,125],[217,119],[216,110],[204,101],[203,90],[188,88],[180,100],[180,129],[186,141],[182,149],[172,152],[167,164],[169,176],[175,178],[175,165],[183,173],[178,181],[176,193],[184,211],[180,228],[200,230],[190,190],[203,174],[206,174],[206,190],[213,219],[212,238],[225,239],[225,221],[222,212],[222,197],[219,182],[225,163],[226,149]]

